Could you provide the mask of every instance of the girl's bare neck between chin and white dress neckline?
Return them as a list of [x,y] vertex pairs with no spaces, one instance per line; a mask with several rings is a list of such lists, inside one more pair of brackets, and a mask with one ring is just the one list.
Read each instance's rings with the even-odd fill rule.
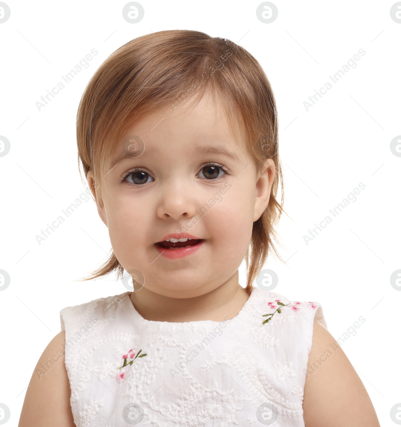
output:
[[238,283],[238,271],[215,290],[193,298],[170,298],[146,287],[131,294],[136,311],[144,319],[158,322],[233,319],[248,298],[248,292]]

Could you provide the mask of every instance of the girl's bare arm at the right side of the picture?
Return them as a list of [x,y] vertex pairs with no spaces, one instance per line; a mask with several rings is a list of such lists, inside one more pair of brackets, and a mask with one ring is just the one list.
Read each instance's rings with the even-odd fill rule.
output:
[[348,357],[324,326],[316,321],[313,326],[304,389],[305,426],[380,427],[368,392]]

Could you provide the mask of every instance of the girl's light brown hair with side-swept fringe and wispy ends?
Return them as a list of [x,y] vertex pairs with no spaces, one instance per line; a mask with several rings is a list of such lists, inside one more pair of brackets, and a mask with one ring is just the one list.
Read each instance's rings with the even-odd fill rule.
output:
[[[254,222],[245,256],[247,287],[252,283],[277,241],[274,225],[283,212],[283,178],[278,156],[277,112],[270,83],[257,60],[233,41],[192,30],[166,30],[143,35],[117,49],[94,73],[77,113],[78,161],[85,177],[89,170],[97,186],[97,203],[108,191],[105,174],[115,142],[144,114],[159,108],[175,111],[205,93],[222,105],[236,134],[245,136],[257,172],[266,159],[276,165],[270,200]],[[113,141],[113,143],[112,143]],[[82,178],[82,175],[81,175]],[[280,186],[281,199],[277,201]],[[100,278],[124,269],[114,253],[92,275]]]

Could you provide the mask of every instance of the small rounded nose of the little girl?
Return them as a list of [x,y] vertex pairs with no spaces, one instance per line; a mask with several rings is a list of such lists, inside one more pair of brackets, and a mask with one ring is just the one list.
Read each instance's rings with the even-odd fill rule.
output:
[[185,186],[167,182],[161,190],[160,202],[157,207],[159,218],[186,219],[195,215],[195,204],[190,191]]

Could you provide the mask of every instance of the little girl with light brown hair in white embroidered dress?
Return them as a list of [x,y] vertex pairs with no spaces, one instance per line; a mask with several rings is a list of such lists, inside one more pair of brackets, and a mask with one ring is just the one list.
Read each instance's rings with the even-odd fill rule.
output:
[[189,30],[130,41],[89,82],[77,141],[112,245],[89,279],[133,287],[61,310],[21,427],[379,425],[320,304],[253,286],[282,180],[250,53]]

